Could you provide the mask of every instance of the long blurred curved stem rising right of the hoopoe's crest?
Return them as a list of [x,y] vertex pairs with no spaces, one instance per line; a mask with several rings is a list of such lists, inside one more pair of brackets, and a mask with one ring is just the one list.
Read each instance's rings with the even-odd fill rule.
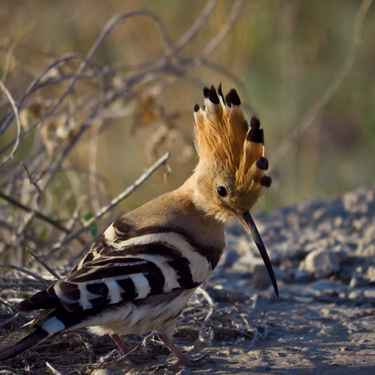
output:
[[[312,123],[317,119],[320,113],[324,110],[327,104],[332,100],[333,96],[337,93],[345,78],[347,78],[351,68],[354,65],[362,44],[362,26],[365,15],[372,3],[372,0],[363,0],[356,14],[354,22],[354,36],[353,44],[345,58],[344,63],[341,65],[335,78],[327,87],[323,95],[311,107],[308,113],[302,118],[300,123],[293,129],[293,131],[278,145],[276,150],[270,156],[270,160],[282,160],[282,156],[292,147],[292,145],[306,132]],[[272,171],[273,165],[269,166],[268,171]]]

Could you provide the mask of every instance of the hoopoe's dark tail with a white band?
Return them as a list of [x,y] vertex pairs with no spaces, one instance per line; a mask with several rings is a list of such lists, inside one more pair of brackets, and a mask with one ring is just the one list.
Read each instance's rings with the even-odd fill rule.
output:
[[[69,326],[72,325],[70,324]],[[59,319],[54,310],[45,310],[33,321],[14,332],[0,337],[0,360],[17,356],[17,354],[57,335],[67,328],[70,327],[67,327]]]

